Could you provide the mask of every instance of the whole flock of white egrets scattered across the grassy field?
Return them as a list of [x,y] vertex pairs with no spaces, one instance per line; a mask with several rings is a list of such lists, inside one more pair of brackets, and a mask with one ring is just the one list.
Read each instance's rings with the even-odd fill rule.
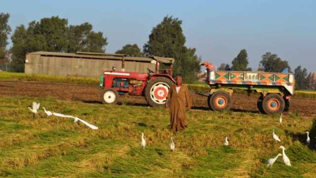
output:
[[[38,110],[40,109],[40,103],[36,103],[36,102],[33,102],[33,108],[30,108],[28,107],[34,114],[38,114]],[[57,117],[65,117],[65,118],[73,118],[74,119],[74,122],[82,122],[83,124],[85,124],[86,126],[88,126],[89,128],[93,129],[93,130],[97,130],[98,127],[92,125],[92,124],[89,124],[88,122],[82,120],[82,119],[79,119],[78,117],[74,117],[74,116],[70,116],[70,115],[64,115],[64,114],[61,114],[61,113],[55,113],[55,112],[51,112],[51,111],[46,111],[46,109],[43,107],[44,109],[44,112],[47,116],[51,116],[51,115],[54,115],[54,116],[57,116]],[[282,124],[282,113],[281,113],[281,116],[280,116],[280,119],[279,119],[279,123]],[[311,142],[311,139],[310,139],[310,136],[309,136],[309,132],[305,132],[307,134],[307,139],[306,139],[306,143],[309,145],[310,142]],[[281,142],[280,138],[275,134],[275,130],[273,130],[273,138],[278,141],[278,142]],[[175,149],[175,144],[173,142],[173,137],[171,135],[171,142],[170,142],[170,151],[174,151]],[[316,137],[315,137],[316,138]],[[225,146],[228,146],[229,145],[229,142],[228,142],[228,136],[225,137],[225,141],[224,141],[224,145]],[[143,149],[145,149],[146,147],[146,140],[144,138],[144,133],[142,133],[142,141],[141,141],[141,146]],[[267,161],[267,167],[272,167],[272,165],[276,162],[276,159],[279,157],[279,156],[282,156],[283,158],[283,162],[286,166],[292,166],[291,165],[291,162],[290,162],[290,159],[286,156],[284,150],[284,146],[280,146],[279,147],[280,149],[282,149],[282,154],[277,154],[276,157],[274,158],[270,158],[268,159]]]

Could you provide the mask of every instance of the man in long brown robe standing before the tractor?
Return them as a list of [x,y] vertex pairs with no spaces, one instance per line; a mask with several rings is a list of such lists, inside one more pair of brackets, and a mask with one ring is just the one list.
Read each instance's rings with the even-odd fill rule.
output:
[[[171,100],[170,106],[169,99]],[[173,132],[181,131],[187,127],[186,108],[191,109],[191,106],[189,89],[182,84],[182,78],[177,76],[176,84],[170,87],[165,104],[166,108],[170,108],[170,128]]]

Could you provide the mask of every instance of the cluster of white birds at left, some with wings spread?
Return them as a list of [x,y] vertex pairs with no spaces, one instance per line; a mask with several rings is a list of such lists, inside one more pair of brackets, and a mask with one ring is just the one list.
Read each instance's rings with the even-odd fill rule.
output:
[[[36,103],[36,102],[33,102],[33,106],[32,108],[28,107],[34,114],[38,114],[38,110],[40,109],[40,103]],[[78,117],[74,117],[74,116],[70,116],[70,115],[64,115],[64,114],[60,114],[60,113],[55,113],[55,112],[51,112],[51,111],[46,111],[46,109],[43,107],[44,109],[44,112],[47,116],[57,116],[57,117],[65,117],[65,118],[72,118],[74,119],[74,122],[77,122],[79,123],[79,121],[83,124],[85,124],[86,126],[88,126],[89,128],[93,129],[93,130],[97,130],[98,127],[92,125],[92,124],[89,124],[88,122],[82,120],[82,119],[79,119]]]

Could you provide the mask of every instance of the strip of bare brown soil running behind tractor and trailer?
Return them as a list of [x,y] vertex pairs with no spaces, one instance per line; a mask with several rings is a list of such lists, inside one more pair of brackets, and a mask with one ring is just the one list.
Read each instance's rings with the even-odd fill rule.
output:
[[[53,97],[62,100],[81,101],[86,103],[100,103],[100,89],[91,85],[56,84],[42,82],[0,81],[0,96],[33,96]],[[191,94],[193,109],[208,110],[207,97]],[[233,94],[233,111],[259,112],[257,109],[258,95]],[[124,95],[119,98],[120,103],[147,106],[145,97]],[[305,116],[316,115],[316,100],[291,100],[290,112]]]

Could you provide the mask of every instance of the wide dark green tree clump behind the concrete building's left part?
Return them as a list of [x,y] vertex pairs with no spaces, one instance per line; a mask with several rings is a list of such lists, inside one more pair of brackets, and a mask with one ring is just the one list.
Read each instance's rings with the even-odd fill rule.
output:
[[108,44],[102,32],[92,31],[91,24],[86,22],[68,27],[68,20],[58,16],[32,21],[28,28],[18,26],[11,40],[12,65],[17,72],[24,71],[27,52],[104,52]]

